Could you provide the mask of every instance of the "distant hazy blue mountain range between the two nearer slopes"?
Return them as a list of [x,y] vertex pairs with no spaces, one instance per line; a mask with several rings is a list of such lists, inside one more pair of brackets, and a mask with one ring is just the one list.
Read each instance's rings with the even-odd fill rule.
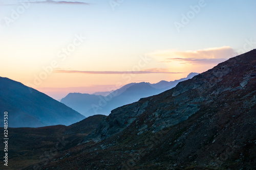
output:
[[94,114],[109,115],[111,110],[117,107],[134,103],[141,98],[159,94],[175,87],[179,82],[191,79],[196,75],[198,73],[191,72],[186,78],[170,82],[160,81],[156,84],[145,82],[130,83],[110,92],[96,92],[94,94],[69,93],[60,102],[84,116]]

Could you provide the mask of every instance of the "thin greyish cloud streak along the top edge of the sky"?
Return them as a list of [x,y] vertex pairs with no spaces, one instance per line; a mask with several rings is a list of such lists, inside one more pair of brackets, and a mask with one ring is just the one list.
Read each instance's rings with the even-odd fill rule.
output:
[[[77,4],[77,5],[91,5],[90,3],[84,3],[84,2],[72,2],[72,1],[52,1],[52,0],[46,0],[46,1],[24,1],[24,3],[31,3],[31,4]],[[3,4],[3,5],[17,5],[19,3],[13,3],[13,4]]]

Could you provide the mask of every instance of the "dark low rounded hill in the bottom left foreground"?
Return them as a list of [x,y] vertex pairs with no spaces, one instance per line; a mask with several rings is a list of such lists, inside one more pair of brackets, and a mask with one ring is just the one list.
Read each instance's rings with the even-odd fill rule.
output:
[[[105,115],[94,115],[70,126],[56,125],[40,128],[8,128],[8,167],[0,162],[0,169],[22,169],[30,164],[46,163],[56,154],[75,147],[94,131]],[[0,128],[4,131],[4,128]],[[4,155],[4,150],[0,151]]]

